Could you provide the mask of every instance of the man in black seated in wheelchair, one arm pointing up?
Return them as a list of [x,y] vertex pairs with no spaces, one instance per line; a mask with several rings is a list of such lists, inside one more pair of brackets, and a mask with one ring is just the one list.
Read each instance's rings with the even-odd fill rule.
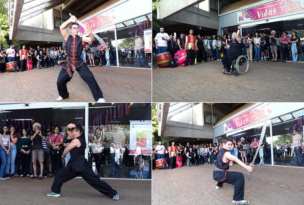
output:
[[225,46],[225,49],[229,50],[227,55],[222,58],[222,64],[228,73],[231,72],[231,65],[240,55],[242,55],[242,39],[241,39],[241,25],[237,27],[238,31],[232,33],[232,41],[229,45]]

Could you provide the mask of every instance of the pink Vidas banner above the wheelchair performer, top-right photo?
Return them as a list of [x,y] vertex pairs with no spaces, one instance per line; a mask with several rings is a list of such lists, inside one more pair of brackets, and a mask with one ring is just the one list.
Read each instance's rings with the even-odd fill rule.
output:
[[237,12],[238,23],[304,11],[304,0],[278,0]]

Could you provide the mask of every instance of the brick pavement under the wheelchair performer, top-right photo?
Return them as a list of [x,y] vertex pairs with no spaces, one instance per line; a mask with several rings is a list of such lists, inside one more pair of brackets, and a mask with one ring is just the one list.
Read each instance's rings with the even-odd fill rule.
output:
[[[156,65],[153,66],[156,68]],[[249,63],[238,77],[220,61],[152,71],[153,102],[298,102],[304,100],[304,63]]]

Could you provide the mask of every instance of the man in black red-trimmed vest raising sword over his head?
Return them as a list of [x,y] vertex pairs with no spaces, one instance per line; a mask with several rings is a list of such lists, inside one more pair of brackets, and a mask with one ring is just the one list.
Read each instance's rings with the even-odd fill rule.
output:
[[[81,52],[84,47],[84,42],[95,41],[95,37],[88,26],[85,28],[85,34],[89,35],[89,37],[78,36],[79,25],[76,21],[77,18],[75,16],[71,16],[60,26],[60,32],[65,39],[67,57],[65,60],[59,61],[59,65],[62,67],[57,79],[57,89],[60,96],[56,100],[61,101],[64,98],[68,98],[69,93],[67,83],[71,81],[74,71],[77,70],[80,77],[91,89],[95,101],[106,102],[103,99],[103,93],[101,92],[93,73],[90,71],[87,64],[81,60]],[[65,27],[68,25],[72,35],[69,35],[65,30]]]

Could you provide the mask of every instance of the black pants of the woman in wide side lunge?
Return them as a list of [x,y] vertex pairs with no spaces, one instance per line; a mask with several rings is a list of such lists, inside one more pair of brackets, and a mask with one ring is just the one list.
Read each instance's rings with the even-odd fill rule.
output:
[[57,194],[60,194],[63,183],[66,183],[67,181],[74,179],[79,175],[88,184],[90,184],[94,189],[96,189],[103,195],[112,198],[117,194],[117,191],[112,189],[110,185],[108,185],[104,181],[101,181],[99,177],[95,175],[88,161],[84,162],[84,170],[82,172],[74,172],[72,171],[72,169],[67,169],[67,167],[60,169],[55,177],[51,190]]

